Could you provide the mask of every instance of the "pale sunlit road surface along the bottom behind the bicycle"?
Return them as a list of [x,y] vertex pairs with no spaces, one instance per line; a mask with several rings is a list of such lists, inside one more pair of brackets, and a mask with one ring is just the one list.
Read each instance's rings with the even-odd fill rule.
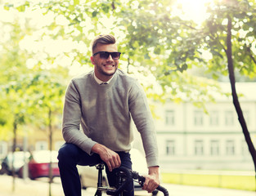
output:
[[[0,176],[0,196],[48,196],[49,185],[47,179],[22,180],[16,178],[15,191],[12,191],[12,177]],[[256,196],[252,191],[241,191],[234,189],[218,189],[209,187],[196,187],[184,185],[167,185],[170,196]],[[93,188],[82,190],[83,196],[94,195]],[[143,194],[145,195],[145,194]],[[159,196],[162,194],[159,194]],[[52,196],[64,196],[61,188],[61,180],[56,178],[52,184]]]

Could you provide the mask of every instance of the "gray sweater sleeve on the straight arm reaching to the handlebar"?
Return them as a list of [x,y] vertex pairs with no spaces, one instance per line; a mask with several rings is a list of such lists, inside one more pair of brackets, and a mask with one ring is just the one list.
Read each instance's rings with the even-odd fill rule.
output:
[[146,94],[141,85],[135,81],[129,91],[128,101],[132,120],[137,127],[137,131],[141,134],[147,166],[159,166],[154,121],[146,100]]

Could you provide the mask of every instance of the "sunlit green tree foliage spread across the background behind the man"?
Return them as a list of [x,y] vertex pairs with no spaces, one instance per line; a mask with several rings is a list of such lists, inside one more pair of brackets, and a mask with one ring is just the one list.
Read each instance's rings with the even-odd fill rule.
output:
[[[0,85],[5,89],[0,99],[15,105],[7,114],[20,111],[17,115],[20,122],[38,119],[38,124],[47,122],[49,108],[56,111],[56,116],[60,115],[61,97],[71,77],[69,69],[72,70],[73,65],[92,66],[90,42],[99,33],[112,33],[118,39],[121,66],[128,73],[145,79],[154,76],[155,83],[141,81],[150,98],[187,100],[204,106],[206,101],[213,100],[209,88],[220,91],[214,80],[227,76],[226,29],[227,16],[231,16],[236,73],[255,78],[256,5],[253,0],[210,2],[209,18],[202,25],[174,16],[173,3],[175,1],[168,0],[52,0],[26,1],[19,5],[6,2],[6,11],[20,14],[34,11],[41,19],[37,25],[29,17],[24,23],[16,13],[15,20],[2,23],[12,29],[11,37],[2,41],[0,55]],[[20,47],[28,41],[30,47]],[[52,46],[46,45],[47,42],[52,42]],[[63,47],[51,50],[59,42]],[[203,51],[208,51],[211,57],[205,58]],[[213,80],[191,74],[189,70],[195,67],[204,69],[204,74]],[[156,85],[161,91],[155,91]],[[35,114],[35,111],[39,112]],[[0,112],[2,125],[10,124],[7,119],[14,119],[2,114]]]

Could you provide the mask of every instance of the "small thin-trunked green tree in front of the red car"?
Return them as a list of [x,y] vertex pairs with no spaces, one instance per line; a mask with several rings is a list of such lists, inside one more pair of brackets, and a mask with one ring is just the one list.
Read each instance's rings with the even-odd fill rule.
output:
[[[52,70],[53,71],[53,70]],[[54,71],[53,71],[54,72]],[[60,74],[47,71],[37,72],[29,83],[29,96],[37,95],[31,104],[31,115],[34,117],[34,126],[47,132],[50,151],[54,126],[60,123],[62,111],[61,97],[65,93],[66,83]],[[37,120],[36,120],[37,119]],[[49,196],[52,195],[52,156],[49,167]]]

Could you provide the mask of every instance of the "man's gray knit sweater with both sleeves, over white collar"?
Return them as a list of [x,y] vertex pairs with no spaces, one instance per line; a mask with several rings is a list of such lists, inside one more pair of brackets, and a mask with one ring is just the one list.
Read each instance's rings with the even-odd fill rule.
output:
[[92,154],[96,143],[128,152],[133,140],[132,119],[141,133],[148,167],[158,166],[153,118],[146,95],[135,79],[117,69],[109,84],[99,85],[93,72],[71,80],[63,111],[62,133],[66,142],[78,145],[88,154]]

